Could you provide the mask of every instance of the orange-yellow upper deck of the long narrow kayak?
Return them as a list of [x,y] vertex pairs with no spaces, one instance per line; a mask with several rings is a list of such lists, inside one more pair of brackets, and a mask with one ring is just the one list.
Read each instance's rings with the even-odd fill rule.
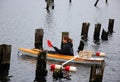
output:
[[[19,48],[19,52],[22,52],[22,54],[26,53],[28,55],[37,56],[42,50],[39,49],[26,49],[26,48]],[[69,56],[69,55],[62,55],[58,53],[49,53],[47,52],[47,58],[48,59],[54,59],[54,60],[70,60],[74,58],[75,56]],[[82,58],[82,57],[76,57],[74,62],[102,62],[104,61],[103,57],[90,57],[90,58]]]

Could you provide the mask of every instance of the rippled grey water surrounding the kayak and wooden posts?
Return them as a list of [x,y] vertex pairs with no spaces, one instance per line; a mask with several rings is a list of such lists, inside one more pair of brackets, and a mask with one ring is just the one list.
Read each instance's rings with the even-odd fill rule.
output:
[[[76,54],[83,22],[90,23],[88,41],[85,49],[101,51],[107,54],[103,82],[120,82],[120,0],[55,0],[55,9],[48,13],[45,0],[0,0],[0,44],[12,45],[10,82],[33,82],[35,78],[36,61],[34,58],[21,60],[17,57],[18,48],[33,48],[35,29],[44,29],[44,49],[52,50],[46,44],[50,39],[54,45],[60,46],[61,32],[70,33]],[[108,19],[115,19],[113,35],[108,41],[100,40],[93,43],[93,32],[96,23],[102,24],[107,30]],[[88,82],[89,67],[77,66],[78,72],[72,74],[70,82]],[[49,65],[47,67],[49,70]],[[52,82],[51,72],[46,77]]]

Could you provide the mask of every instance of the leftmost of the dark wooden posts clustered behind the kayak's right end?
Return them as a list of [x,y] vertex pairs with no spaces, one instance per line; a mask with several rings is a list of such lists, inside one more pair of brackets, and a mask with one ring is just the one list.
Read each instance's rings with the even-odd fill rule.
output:
[[90,23],[84,22],[82,24],[81,39],[83,39],[85,41],[87,41],[89,26],[90,26]]

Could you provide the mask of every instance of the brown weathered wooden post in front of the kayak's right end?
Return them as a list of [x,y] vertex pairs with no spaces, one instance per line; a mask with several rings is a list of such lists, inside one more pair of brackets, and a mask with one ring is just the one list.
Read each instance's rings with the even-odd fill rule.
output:
[[105,61],[102,61],[100,65],[92,65],[89,82],[102,82],[104,68]]

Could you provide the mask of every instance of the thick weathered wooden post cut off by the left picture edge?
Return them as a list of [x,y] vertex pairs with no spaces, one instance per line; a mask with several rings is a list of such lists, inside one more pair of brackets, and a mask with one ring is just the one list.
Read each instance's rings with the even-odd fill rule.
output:
[[11,45],[0,45],[0,80],[6,82],[9,80]]

